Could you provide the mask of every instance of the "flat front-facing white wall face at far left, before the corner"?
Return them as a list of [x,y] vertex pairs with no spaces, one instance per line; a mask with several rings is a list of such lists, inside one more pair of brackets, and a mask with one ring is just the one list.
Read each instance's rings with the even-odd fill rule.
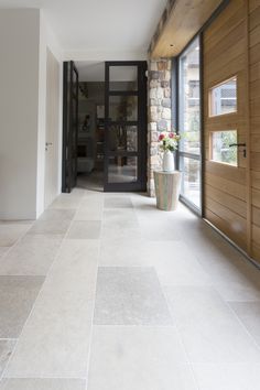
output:
[[0,10],[0,219],[36,217],[37,10]]

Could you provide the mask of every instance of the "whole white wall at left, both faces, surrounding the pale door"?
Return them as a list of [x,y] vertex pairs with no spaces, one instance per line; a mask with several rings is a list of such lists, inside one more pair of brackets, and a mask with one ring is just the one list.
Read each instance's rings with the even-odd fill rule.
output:
[[56,194],[62,175],[62,53],[40,10],[0,10],[0,219],[44,210],[46,48],[59,62]]

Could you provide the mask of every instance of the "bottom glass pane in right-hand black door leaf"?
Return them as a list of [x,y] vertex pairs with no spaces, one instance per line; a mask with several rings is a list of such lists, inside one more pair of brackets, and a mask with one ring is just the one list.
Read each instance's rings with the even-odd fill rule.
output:
[[138,159],[136,156],[109,158],[108,182],[133,183],[138,180]]

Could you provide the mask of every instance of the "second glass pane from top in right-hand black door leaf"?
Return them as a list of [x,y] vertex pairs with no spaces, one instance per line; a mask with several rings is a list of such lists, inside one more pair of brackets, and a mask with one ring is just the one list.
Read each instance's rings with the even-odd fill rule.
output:
[[137,96],[110,96],[109,97],[109,120],[112,121],[138,120],[138,97]]

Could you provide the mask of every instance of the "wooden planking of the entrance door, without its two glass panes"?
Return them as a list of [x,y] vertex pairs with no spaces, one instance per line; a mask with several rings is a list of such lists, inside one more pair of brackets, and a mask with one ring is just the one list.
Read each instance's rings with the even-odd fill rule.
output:
[[[204,202],[206,218],[248,251],[247,159],[239,151],[238,167],[210,161],[212,131],[237,130],[239,142],[249,132],[245,1],[231,0],[204,33]],[[237,112],[210,117],[210,88],[232,76],[237,76]]]

